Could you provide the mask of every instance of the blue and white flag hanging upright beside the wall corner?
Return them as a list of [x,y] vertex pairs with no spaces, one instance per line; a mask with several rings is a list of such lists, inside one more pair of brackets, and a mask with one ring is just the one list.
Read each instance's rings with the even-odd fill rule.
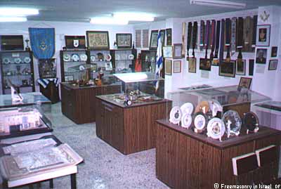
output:
[[[162,56],[162,41],[161,33],[159,32],[157,37],[157,54],[156,54],[156,65],[155,65],[155,79],[159,79],[161,71],[163,69],[163,56]],[[155,91],[159,88],[159,80],[155,84]]]

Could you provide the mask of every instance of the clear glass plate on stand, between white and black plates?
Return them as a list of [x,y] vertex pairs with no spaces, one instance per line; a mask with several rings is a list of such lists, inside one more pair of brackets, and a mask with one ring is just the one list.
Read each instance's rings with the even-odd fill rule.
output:
[[223,114],[222,121],[226,126],[226,133],[228,133],[228,137],[233,135],[238,136],[240,134],[242,121],[238,112],[228,110]]

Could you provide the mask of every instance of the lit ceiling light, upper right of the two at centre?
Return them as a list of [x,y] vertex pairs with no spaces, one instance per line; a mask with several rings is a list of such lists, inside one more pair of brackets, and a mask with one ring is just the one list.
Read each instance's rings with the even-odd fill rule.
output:
[[114,13],[114,18],[126,19],[129,21],[154,21],[155,15],[149,13]]

